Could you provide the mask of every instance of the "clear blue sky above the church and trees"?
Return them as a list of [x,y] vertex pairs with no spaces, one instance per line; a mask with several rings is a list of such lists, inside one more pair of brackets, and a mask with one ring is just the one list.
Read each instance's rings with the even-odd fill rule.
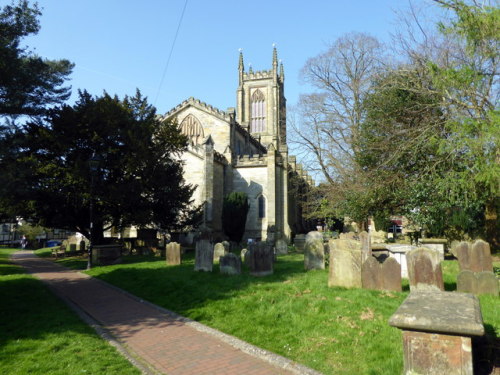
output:
[[[429,0],[415,0],[430,4]],[[10,3],[0,0],[0,4]],[[272,45],[285,69],[288,105],[297,102],[306,60],[352,31],[390,41],[395,11],[407,0],[40,0],[41,31],[26,39],[36,53],[76,64],[78,89],[133,95],[139,88],[158,113],[193,96],[219,109],[235,106],[238,50],[245,67],[271,68]]]

